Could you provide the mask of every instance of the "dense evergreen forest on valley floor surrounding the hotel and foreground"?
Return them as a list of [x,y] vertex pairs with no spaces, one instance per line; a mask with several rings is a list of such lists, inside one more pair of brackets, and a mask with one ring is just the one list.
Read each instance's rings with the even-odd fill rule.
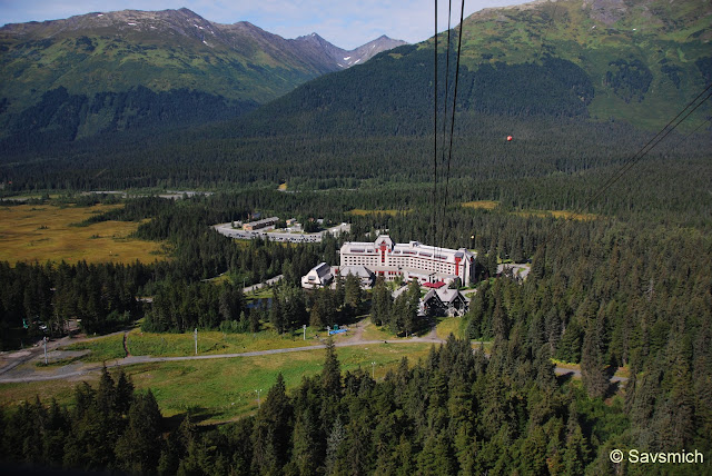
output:
[[[686,180],[694,184],[695,178]],[[455,194],[466,192],[464,187],[453,188]],[[439,210],[437,226],[432,227],[428,190],[257,189],[176,201],[131,199],[91,220],[151,218],[137,236],[168,240],[172,259],[154,265],[4,264],[2,325],[17,327],[22,318],[36,316],[48,323],[81,316],[87,330],[106,331],[145,316],[145,326],[152,330],[251,331],[265,321],[286,330],[301,324],[344,323],[367,311],[394,331],[411,333],[419,323],[406,294],[394,301],[378,286],[373,295],[364,295],[353,282],[308,296],[296,288],[299,276],[316,262],[337,262],[342,240],[387,229],[396,241],[421,239],[478,250],[481,284],[463,328],[467,337],[494,341],[490,359],[449,343],[415,368],[402,366],[385,381],[375,383],[365,371],[337,379],[325,370],[325,376],[305,379],[294,391],[277,384],[260,411],[237,424],[207,433],[190,422],[169,433],[160,424],[155,427],[159,429],[141,429],[152,435],[155,446],[144,466],[128,470],[602,474],[620,470],[609,460],[612,448],[710,450],[712,239],[709,219],[694,211],[692,201],[671,200],[669,208],[655,208],[627,202],[630,196],[610,196],[605,200],[620,216],[587,220],[541,217],[511,206],[472,209],[457,201]],[[533,194],[530,200],[544,204],[546,198]],[[348,214],[358,207],[400,211]],[[685,207],[689,214],[682,212]],[[352,235],[304,246],[236,244],[209,228],[254,210],[348,220]],[[312,214],[299,215],[304,210]],[[491,280],[502,259],[531,259],[528,278]],[[225,271],[235,286],[201,281]],[[237,282],[280,272],[286,279],[273,306],[250,311]],[[137,301],[139,296],[154,296],[154,304]],[[582,385],[556,379],[552,357],[580,364]],[[610,376],[621,367],[627,369],[629,380],[621,388],[611,386]],[[48,425],[67,420],[67,410],[55,406],[22,408],[8,411],[6,420],[29,418],[32,428],[46,425],[41,435],[58,435]],[[58,413],[65,416],[47,416]],[[127,425],[130,416],[122,422]],[[10,423],[6,428],[27,426]],[[107,438],[121,438],[121,432],[112,435]],[[90,455],[72,459],[67,456],[72,454],[72,438],[57,438],[63,443],[42,443],[53,448],[44,459],[20,453],[6,453],[6,459],[85,468],[127,464],[118,453],[105,455],[103,463],[89,462]],[[624,469],[686,474],[682,466]]]

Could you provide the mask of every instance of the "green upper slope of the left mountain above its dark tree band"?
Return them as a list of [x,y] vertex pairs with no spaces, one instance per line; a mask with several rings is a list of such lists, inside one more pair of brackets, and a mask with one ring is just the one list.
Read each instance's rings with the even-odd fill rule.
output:
[[266,102],[336,68],[280,50],[249,23],[211,23],[189,10],[92,13],[9,24],[0,33],[1,95],[26,105],[57,87],[91,95],[144,86]]

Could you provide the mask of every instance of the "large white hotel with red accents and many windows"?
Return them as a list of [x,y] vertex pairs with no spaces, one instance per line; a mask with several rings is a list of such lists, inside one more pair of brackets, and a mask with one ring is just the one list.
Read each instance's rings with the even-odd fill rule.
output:
[[459,278],[468,286],[475,274],[475,254],[465,248],[438,248],[418,241],[394,244],[387,235],[380,235],[373,242],[347,241],[342,246],[340,256],[342,268],[364,266],[386,280],[400,276],[425,284]]

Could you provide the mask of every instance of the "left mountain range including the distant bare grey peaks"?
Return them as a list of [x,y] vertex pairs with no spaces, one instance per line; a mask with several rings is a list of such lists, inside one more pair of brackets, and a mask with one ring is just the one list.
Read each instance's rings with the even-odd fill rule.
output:
[[[382,36],[347,51],[316,33],[284,39],[188,9],[7,24],[0,29],[0,112],[12,115],[6,129],[14,130],[37,123],[38,109],[43,128],[52,128],[48,115],[79,116],[70,121],[79,137],[136,126],[137,109],[148,113],[141,123],[234,117],[399,44]],[[141,112],[141,101],[161,112]],[[209,110],[196,115],[200,103]],[[33,117],[22,117],[26,111]]]

